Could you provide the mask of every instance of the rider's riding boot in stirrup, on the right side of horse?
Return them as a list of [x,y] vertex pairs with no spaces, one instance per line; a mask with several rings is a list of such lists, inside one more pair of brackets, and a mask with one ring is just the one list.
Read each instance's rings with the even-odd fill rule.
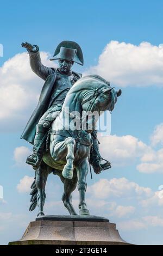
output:
[[[93,145],[91,147],[91,152],[90,152],[90,164],[92,165],[94,172],[96,174],[99,174],[102,172],[102,170],[109,169],[111,165],[110,165],[110,162],[103,159],[99,153],[99,142],[97,139],[97,131],[93,131],[91,135],[92,135]],[[101,163],[102,160],[106,161],[106,163]]]

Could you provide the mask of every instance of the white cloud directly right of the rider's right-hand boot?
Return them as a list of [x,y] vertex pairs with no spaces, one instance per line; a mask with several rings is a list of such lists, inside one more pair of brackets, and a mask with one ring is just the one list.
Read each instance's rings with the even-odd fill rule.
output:
[[131,164],[136,157],[141,157],[149,147],[139,139],[131,136],[110,135],[99,137],[101,155],[111,161],[112,166]]

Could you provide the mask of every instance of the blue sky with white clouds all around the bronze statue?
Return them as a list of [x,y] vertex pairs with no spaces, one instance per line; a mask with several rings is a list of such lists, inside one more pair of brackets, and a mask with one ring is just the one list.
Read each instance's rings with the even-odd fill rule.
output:
[[[93,174],[93,180],[88,175],[87,206],[92,215],[102,212],[110,222],[117,223],[124,240],[163,244],[163,203],[157,196],[158,187],[163,184],[160,160],[163,62],[159,47],[163,43],[162,5],[159,0],[89,0],[68,4],[67,1],[48,1],[48,5],[45,1],[1,2],[0,44],[3,44],[4,56],[0,57],[0,185],[4,188],[5,201],[0,202],[1,244],[20,239],[36,216],[36,210],[28,212],[28,186],[22,189],[34,175],[32,168],[24,164],[31,147],[20,136],[36,106],[43,81],[30,70],[21,42],[39,45],[43,64],[54,65],[48,58],[62,40],[77,41],[82,47],[84,67],[76,64],[74,70],[96,72],[122,89],[111,116],[112,137],[106,142],[100,139],[102,154],[112,162],[112,168],[101,176]],[[140,45],[144,41],[149,44]],[[153,161],[147,160],[147,154],[151,154]],[[153,164],[148,165],[151,172],[147,164]],[[106,186],[106,191],[99,192],[101,198],[93,184]],[[58,178],[49,176],[47,214],[68,213],[60,202],[61,193]],[[119,193],[121,196],[117,196]],[[96,198],[96,207],[91,204],[91,198]],[[75,192],[76,207],[77,202],[78,192]],[[130,228],[126,229],[126,225]]]

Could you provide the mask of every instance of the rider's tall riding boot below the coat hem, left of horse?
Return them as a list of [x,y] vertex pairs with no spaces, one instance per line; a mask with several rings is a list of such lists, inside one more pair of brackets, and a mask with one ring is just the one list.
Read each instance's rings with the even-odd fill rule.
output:
[[45,149],[45,140],[43,137],[45,136],[46,131],[47,129],[45,129],[43,125],[36,125],[33,154],[28,156],[26,160],[26,163],[32,165],[35,170],[39,168],[42,161],[42,155]]

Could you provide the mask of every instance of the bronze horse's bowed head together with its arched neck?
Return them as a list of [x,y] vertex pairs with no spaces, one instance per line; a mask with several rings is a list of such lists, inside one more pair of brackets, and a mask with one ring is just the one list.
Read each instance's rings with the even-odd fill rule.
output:
[[[105,110],[110,112],[114,109],[117,97],[121,95],[110,86],[110,83],[98,75],[89,75],[80,78],[69,90],[62,109],[68,107],[71,117],[82,114],[82,130],[91,131],[95,129],[96,122]],[[76,114],[72,112],[76,111]],[[79,115],[78,115],[78,113]],[[69,125],[69,124],[68,124]],[[91,126],[91,129],[88,127]]]

